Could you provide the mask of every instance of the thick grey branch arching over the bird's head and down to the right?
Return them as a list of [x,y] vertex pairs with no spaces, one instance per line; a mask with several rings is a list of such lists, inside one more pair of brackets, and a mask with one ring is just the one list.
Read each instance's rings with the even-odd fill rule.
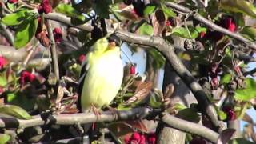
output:
[[[49,18],[52,20],[65,23],[66,25],[72,26],[70,23],[70,18],[66,18],[60,14],[47,14],[45,18]],[[89,25],[81,25],[75,26],[81,30],[91,31],[92,26]],[[113,30],[108,30],[110,33]],[[190,90],[192,90],[195,98],[197,99],[199,106],[202,107],[202,111],[206,113],[206,115],[210,118],[211,122],[213,122],[214,126],[218,126],[218,118],[217,113],[214,110],[213,104],[210,103],[207,98],[206,93],[202,90],[202,86],[197,82],[197,80],[193,77],[189,70],[186,69],[186,66],[183,65],[181,60],[174,52],[174,47],[167,43],[160,37],[150,37],[146,35],[138,35],[132,34],[125,31],[116,31],[116,35],[118,38],[121,38],[126,42],[133,42],[140,45],[146,46],[154,46],[157,50],[162,52],[162,54],[166,57],[170,65],[174,68],[177,74],[182,78],[182,80],[186,83]]]

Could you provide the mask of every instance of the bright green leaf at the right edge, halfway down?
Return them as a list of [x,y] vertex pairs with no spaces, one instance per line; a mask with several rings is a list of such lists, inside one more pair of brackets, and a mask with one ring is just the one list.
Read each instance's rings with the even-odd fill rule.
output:
[[246,78],[246,88],[234,91],[234,98],[240,101],[250,101],[256,98],[256,81],[253,78]]

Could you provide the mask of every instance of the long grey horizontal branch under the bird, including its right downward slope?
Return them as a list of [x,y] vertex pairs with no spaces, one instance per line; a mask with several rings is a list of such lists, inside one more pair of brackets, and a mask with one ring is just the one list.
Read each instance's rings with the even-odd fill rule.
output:
[[[34,116],[33,119],[30,120],[2,117],[0,118],[0,127],[24,129],[31,126],[44,125],[75,125],[92,122],[116,122],[154,118],[158,114],[161,114],[160,110],[153,110],[147,107],[138,107],[131,110],[116,111],[115,113],[112,111],[105,111],[102,112],[100,116],[96,116],[94,113],[58,114],[49,115],[48,118],[44,118],[44,116]],[[217,142],[218,134],[205,126],[193,122],[187,122],[167,113],[163,113],[161,120],[175,129],[186,131],[191,134],[198,134],[211,142]]]

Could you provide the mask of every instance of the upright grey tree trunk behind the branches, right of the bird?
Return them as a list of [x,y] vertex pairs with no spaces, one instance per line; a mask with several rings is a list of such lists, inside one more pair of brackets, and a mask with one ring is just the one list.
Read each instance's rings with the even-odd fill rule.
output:
[[[175,37],[174,47],[181,50],[183,48],[183,42],[184,41],[182,38]],[[186,66],[189,66],[188,62],[186,62]],[[181,103],[185,106],[190,106],[190,103],[197,103],[190,89],[186,86],[184,82],[182,82],[182,79],[178,77],[178,74],[176,74],[174,70],[172,70],[170,64],[166,63],[162,91],[165,91],[166,86],[168,86],[170,83],[174,84],[174,94],[170,97],[170,102],[172,104]],[[186,133],[165,126],[163,123],[158,124],[158,134],[158,143],[185,143]]]

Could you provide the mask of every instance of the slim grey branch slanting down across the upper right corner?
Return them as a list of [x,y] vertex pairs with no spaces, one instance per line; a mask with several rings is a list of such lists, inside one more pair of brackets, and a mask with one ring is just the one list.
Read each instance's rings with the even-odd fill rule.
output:
[[[166,6],[173,7],[176,10],[182,11],[183,13],[191,14],[192,11],[184,6],[178,5],[174,2],[166,2]],[[251,42],[250,40],[242,37],[241,34],[231,32],[230,30],[227,30],[221,26],[216,25],[214,22],[211,22],[210,20],[202,17],[202,15],[198,13],[192,14],[193,18],[198,20],[199,22],[202,22],[206,26],[209,26],[211,29],[216,30],[222,34],[226,34],[230,36],[231,38],[237,39],[240,42],[244,42],[247,46],[249,46],[251,49],[256,50],[256,44],[254,42]]]

